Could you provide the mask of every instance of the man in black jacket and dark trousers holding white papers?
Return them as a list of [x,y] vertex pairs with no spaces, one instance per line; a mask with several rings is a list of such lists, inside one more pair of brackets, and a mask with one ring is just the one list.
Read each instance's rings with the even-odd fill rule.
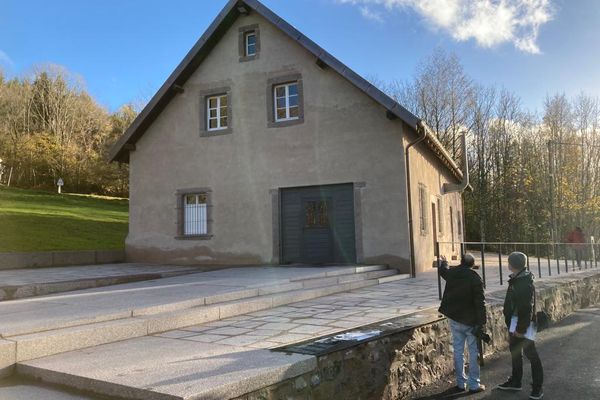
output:
[[512,357],[512,375],[498,386],[501,390],[521,390],[523,378],[523,353],[531,363],[532,400],[544,397],[544,369],[535,348],[535,286],[533,275],[527,271],[527,256],[520,252],[508,256],[508,266],[512,272],[504,300],[504,319],[509,331],[509,348]]

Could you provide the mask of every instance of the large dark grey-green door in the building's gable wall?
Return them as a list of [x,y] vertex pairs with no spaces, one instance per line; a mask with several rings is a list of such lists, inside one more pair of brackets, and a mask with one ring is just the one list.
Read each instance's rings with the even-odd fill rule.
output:
[[283,263],[356,262],[352,184],[282,189]]

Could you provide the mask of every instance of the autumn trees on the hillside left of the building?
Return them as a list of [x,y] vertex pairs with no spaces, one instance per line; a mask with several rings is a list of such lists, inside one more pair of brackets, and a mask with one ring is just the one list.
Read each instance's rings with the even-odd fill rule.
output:
[[136,114],[132,105],[109,113],[58,66],[0,72],[0,183],[54,190],[62,178],[68,192],[127,197],[127,166],[107,154]]

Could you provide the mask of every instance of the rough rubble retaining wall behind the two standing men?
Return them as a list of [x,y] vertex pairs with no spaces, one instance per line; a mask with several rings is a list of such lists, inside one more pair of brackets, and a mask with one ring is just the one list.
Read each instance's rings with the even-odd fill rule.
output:
[[[558,321],[600,303],[600,274],[586,272],[536,283],[538,307]],[[502,315],[504,292],[488,296],[487,330],[493,343],[485,353],[507,348]],[[236,400],[396,400],[452,372],[450,328],[446,319],[376,338],[351,349],[317,357],[317,367],[294,379]]]

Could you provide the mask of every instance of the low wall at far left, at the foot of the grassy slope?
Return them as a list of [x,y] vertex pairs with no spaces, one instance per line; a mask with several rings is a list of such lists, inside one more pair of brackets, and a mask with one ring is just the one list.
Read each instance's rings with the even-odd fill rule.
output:
[[48,251],[0,253],[0,270],[109,264],[125,261],[124,250]]

